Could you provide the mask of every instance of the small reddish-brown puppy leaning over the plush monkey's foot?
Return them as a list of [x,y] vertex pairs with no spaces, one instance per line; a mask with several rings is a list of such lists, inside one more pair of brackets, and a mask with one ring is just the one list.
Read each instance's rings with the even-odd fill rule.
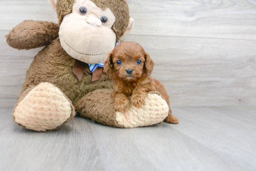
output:
[[158,91],[169,106],[165,121],[177,124],[179,120],[171,115],[169,96],[164,85],[151,78],[154,65],[149,54],[135,42],[123,42],[109,53],[103,71],[109,72],[110,77],[114,79],[114,91],[111,96],[115,99],[115,110],[127,112],[130,103],[139,108],[145,103],[147,92]]

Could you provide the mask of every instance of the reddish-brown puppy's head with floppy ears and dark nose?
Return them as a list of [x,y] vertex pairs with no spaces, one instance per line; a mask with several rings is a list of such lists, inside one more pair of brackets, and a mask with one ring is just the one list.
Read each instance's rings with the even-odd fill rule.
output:
[[154,61],[141,45],[135,42],[122,42],[109,53],[103,71],[109,71],[114,79],[130,82],[150,76],[154,65]]

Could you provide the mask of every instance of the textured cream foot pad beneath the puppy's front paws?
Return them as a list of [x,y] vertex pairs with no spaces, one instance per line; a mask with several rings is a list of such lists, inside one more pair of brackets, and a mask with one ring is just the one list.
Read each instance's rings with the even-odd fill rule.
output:
[[125,128],[155,125],[168,116],[168,105],[158,94],[148,93],[146,103],[141,108],[131,106],[126,113],[116,112],[115,119]]

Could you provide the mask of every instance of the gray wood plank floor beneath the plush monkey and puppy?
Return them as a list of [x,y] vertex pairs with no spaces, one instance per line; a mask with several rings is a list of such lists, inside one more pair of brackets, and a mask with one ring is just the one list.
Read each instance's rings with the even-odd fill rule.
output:
[[174,107],[178,125],[120,129],[75,117],[54,132],[0,108],[0,171],[255,171],[256,107]]

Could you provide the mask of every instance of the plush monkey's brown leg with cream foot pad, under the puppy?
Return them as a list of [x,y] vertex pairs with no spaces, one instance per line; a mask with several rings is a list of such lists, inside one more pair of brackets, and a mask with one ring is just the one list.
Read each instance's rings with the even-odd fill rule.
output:
[[141,108],[131,106],[128,112],[116,112],[112,90],[102,89],[88,93],[75,105],[86,118],[91,118],[104,125],[122,128],[154,125],[168,116],[168,105],[158,94],[148,92],[145,105]]

